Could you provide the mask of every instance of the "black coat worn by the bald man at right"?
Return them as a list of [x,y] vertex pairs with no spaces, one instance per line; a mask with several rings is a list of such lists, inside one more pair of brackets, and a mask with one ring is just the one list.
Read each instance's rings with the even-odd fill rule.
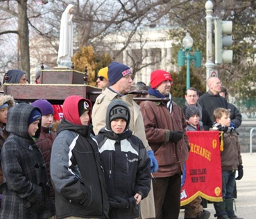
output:
[[210,115],[212,123],[215,122],[213,112],[216,108],[222,107],[228,109],[228,102],[219,94],[214,95],[211,91],[206,92],[199,97],[198,103],[204,108]]

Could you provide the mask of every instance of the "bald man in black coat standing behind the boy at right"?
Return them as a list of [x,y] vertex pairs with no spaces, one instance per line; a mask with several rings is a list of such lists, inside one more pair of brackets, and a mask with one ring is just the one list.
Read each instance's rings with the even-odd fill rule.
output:
[[210,77],[207,79],[207,86],[209,91],[199,97],[198,103],[209,113],[211,120],[214,123],[214,110],[219,107],[228,108],[228,102],[219,95],[221,92],[221,81],[219,77]]

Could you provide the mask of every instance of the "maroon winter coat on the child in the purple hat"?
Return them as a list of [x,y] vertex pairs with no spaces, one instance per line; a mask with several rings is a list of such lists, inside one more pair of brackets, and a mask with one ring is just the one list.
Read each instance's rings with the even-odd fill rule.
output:
[[51,148],[53,146],[53,141],[56,139],[56,133],[51,131],[49,133],[49,128],[41,127],[40,137],[37,139],[36,144],[39,146],[42,151],[42,156],[44,158],[44,163],[47,170],[47,177],[49,181],[51,198],[54,198],[54,189],[51,184],[51,175],[50,175],[50,160],[51,160]]

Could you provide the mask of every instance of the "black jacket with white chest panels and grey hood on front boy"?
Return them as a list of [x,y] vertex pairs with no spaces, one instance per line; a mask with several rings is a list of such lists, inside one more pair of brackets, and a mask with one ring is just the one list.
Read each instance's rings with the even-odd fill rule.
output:
[[[130,113],[125,131],[117,135],[111,129],[110,112],[113,107],[129,108],[121,99],[114,99],[107,108],[105,117],[106,127],[102,128],[96,140],[99,142],[99,151],[105,173],[108,197],[115,196],[128,199],[139,193],[142,198],[148,196],[151,189],[150,159],[141,140],[128,129]],[[110,218],[137,218],[137,205],[126,209],[112,208]]]

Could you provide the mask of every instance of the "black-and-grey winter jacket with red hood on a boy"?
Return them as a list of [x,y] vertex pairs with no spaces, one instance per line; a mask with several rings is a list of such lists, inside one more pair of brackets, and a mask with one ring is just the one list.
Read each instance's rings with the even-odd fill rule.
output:
[[[108,196],[105,192],[99,149],[92,138],[92,125],[80,124],[80,99],[83,97],[71,96],[65,99],[64,117],[58,126],[51,151],[56,216],[108,218]],[[89,105],[92,108],[91,102]]]

